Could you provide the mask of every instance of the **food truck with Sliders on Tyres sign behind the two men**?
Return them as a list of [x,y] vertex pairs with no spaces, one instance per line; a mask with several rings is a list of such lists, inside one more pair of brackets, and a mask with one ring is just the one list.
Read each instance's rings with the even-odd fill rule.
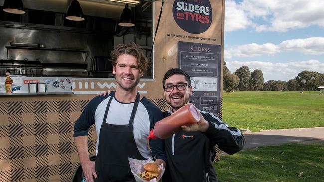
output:
[[[74,123],[92,98],[116,88],[110,51],[120,43],[139,44],[150,59],[137,87],[162,111],[162,78],[179,67],[195,106],[221,117],[225,0],[127,0],[131,27],[119,25],[126,0],[21,0],[18,14],[8,1],[0,0],[1,182],[71,180]],[[82,21],[68,18],[76,2]],[[90,154],[96,139],[92,127]]]

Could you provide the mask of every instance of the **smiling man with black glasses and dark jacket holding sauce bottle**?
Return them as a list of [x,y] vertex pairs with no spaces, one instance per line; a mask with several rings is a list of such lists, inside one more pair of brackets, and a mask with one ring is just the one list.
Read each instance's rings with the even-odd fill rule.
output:
[[[171,106],[163,113],[168,117],[189,103],[192,87],[190,76],[179,68],[171,68],[163,78],[164,96]],[[217,182],[212,166],[215,144],[228,153],[240,151],[245,144],[242,133],[228,127],[212,113],[199,111],[200,121],[165,139],[167,166],[162,182]]]

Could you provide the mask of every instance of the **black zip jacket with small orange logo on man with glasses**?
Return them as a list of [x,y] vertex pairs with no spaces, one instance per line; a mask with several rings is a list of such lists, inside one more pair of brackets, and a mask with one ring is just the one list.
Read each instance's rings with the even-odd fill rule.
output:
[[[200,113],[209,122],[206,132],[180,130],[165,139],[167,166],[162,182],[217,182],[212,166],[215,144],[228,154],[244,147],[245,139],[237,128],[228,127],[212,113]],[[170,110],[163,113],[164,117],[170,115]]]

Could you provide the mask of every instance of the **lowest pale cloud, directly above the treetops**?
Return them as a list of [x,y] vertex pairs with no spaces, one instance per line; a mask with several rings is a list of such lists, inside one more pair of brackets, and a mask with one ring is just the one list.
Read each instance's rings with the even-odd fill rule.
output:
[[308,70],[324,73],[324,63],[318,60],[294,61],[287,63],[271,63],[262,61],[226,61],[227,68],[233,73],[241,66],[248,66],[250,72],[260,69],[263,73],[264,81],[282,80],[288,81],[295,78],[298,73]]

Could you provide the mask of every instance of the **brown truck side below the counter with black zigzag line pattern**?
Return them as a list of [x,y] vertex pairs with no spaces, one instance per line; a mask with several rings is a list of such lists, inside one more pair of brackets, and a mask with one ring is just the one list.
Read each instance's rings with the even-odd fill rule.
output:
[[[150,99],[161,110],[165,99]],[[78,165],[72,142],[71,112],[80,113],[90,100],[0,102],[0,182],[69,182]],[[52,117],[52,116],[56,117]],[[88,148],[95,154],[96,129],[89,129]],[[57,159],[57,161],[53,160]]]

